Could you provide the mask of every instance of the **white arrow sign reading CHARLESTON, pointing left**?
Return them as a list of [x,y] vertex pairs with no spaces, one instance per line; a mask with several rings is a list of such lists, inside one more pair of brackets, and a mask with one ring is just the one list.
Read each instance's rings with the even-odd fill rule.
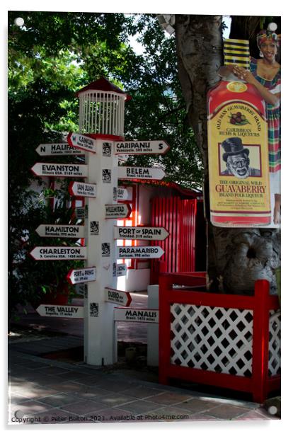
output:
[[35,260],[78,260],[87,258],[86,247],[35,247],[30,251]]

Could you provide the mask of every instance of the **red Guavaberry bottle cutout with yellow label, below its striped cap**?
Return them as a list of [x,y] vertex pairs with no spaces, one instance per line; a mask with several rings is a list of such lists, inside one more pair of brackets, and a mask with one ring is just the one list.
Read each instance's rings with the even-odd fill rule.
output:
[[209,91],[209,197],[214,226],[270,224],[268,124],[252,85],[222,81]]

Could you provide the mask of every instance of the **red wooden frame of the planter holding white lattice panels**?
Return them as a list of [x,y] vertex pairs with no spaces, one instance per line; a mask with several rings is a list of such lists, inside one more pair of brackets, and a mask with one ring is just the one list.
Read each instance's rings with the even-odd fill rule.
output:
[[[173,287],[173,285],[177,285],[179,287]],[[276,311],[278,314],[277,311],[280,308],[278,297],[270,295],[269,290],[270,285],[267,280],[258,280],[255,282],[255,294],[253,296],[212,294],[205,291],[205,272],[161,274],[159,278],[160,383],[168,384],[168,379],[176,378],[185,379],[199,384],[209,384],[227,389],[246,391],[253,395],[253,401],[259,403],[263,403],[265,398],[268,398],[268,393],[270,391],[277,391],[280,389],[280,374],[269,374],[269,341],[272,336],[270,333],[270,316],[272,315],[273,311]],[[226,309],[229,310],[232,308],[234,309],[234,316],[235,313],[248,314],[249,312],[249,316],[251,316],[251,321],[249,323],[249,326],[251,326],[251,338],[249,341],[251,342],[248,343],[251,348],[252,355],[251,374],[248,377],[243,374],[227,374],[217,371],[217,369],[213,371],[209,369],[198,369],[196,367],[188,367],[188,365],[180,364],[178,365],[176,362],[172,362],[174,350],[172,349],[171,343],[174,333],[171,326],[173,325],[172,323],[174,316],[171,312],[171,309],[174,307],[174,304],[177,304],[180,310],[186,310],[189,305],[193,306],[193,308],[196,310],[198,307],[204,306],[206,311],[207,309],[212,310],[218,308],[219,311],[226,311]],[[231,313],[231,311],[229,313]],[[195,328],[193,338],[195,338],[197,335],[196,320],[198,320],[198,317],[190,325]],[[236,321],[233,321],[234,325]],[[227,323],[228,321],[225,322]],[[178,324],[179,323],[180,321]],[[207,325],[207,327],[209,326]],[[180,326],[180,329],[181,328],[182,327]],[[217,326],[214,326],[214,329],[215,328],[217,328]],[[223,327],[221,326],[221,328]],[[184,326],[182,331],[184,331]],[[209,335],[209,333],[206,334]],[[188,339],[188,345],[190,345],[190,343],[193,341],[193,338]],[[236,340],[233,340],[235,344]],[[237,341],[239,341],[239,338],[237,338]],[[277,341],[279,341],[279,339],[277,339]],[[209,345],[206,345],[208,348]],[[196,348],[198,347],[198,340],[194,341],[194,345],[192,345],[192,347],[194,349],[192,348],[190,355],[192,353],[193,355],[195,354]],[[186,352],[188,351],[188,348],[186,345],[184,345],[183,348],[185,349],[185,361],[187,361],[189,358],[186,357],[188,354]],[[225,352],[225,349],[224,354],[226,354],[225,359],[226,357],[229,358],[229,353]],[[234,361],[236,361],[238,358],[239,357],[236,351],[234,353]],[[217,360],[216,355],[215,359]]]

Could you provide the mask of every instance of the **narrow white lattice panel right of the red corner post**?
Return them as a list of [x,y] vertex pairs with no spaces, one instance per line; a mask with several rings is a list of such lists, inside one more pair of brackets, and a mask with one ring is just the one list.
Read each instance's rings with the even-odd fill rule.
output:
[[281,311],[270,311],[269,326],[269,376],[281,372]]

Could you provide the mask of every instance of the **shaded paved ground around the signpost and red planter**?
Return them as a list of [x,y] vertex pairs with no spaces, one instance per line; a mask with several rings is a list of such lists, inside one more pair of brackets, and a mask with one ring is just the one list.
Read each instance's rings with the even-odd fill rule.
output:
[[[134,296],[134,304],[145,306],[145,296]],[[32,311],[21,317],[19,325],[39,333],[11,338],[8,381],[11,424],[278,419],[257,403],[161,385],[156,370],[147,371],[145,367],[139,370],[123,363],[92,367],[81,360],[66,358],[66,354],[62,358],[62,350],[81,348],[82,325],[76,323],[80,320],[59,319],[48,325],[52,320],[40,318]],[[146,342],[145,325],[124,324],[120,340]],[[59,360],[40,357],[50,353],[57,353]]]

